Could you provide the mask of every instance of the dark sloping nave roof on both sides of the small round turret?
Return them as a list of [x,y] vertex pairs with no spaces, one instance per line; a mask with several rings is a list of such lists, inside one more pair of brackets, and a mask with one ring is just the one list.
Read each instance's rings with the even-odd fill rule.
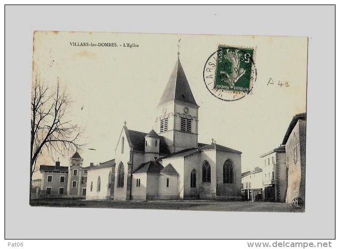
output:
[[[124,126],[125,133],[127,139],[129,141],[129,145],[132,146],[135,150],[145,151],[145,136],[147,133],[129,130]],[[156,133],[157,134],[157,133]],[[165,138],[163,136],[159,136],[159,153],[160,154],[170,154],[169,148],[165,142]]]

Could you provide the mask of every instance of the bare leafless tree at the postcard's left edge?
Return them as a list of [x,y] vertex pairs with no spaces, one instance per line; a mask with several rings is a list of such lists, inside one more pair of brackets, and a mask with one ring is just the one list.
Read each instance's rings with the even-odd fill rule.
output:
[[82,131],[67,118],[70,104],[65,90],[61,90],[59,81],[57,89],[52,91],[36,79],[32,87],[31,99],[31,181],[32,175],[39,170],[37,159],[43,154],[59,153],[64,155],[70,150],[80,149],[78,138]]

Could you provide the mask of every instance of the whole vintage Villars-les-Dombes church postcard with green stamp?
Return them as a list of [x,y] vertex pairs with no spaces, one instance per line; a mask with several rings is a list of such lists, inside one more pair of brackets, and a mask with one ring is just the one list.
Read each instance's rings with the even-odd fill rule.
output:
[[307,37],[33,39],[32,206],[304,211]]

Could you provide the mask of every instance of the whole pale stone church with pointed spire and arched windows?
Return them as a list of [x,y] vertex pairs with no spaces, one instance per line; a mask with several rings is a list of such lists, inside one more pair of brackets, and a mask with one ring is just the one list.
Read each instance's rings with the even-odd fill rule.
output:
[[124,123],[115,159],[89,168],[86,199],[240,200],[241,152],[199,143],[198,109],[178,53],[155,128],[141,132]]

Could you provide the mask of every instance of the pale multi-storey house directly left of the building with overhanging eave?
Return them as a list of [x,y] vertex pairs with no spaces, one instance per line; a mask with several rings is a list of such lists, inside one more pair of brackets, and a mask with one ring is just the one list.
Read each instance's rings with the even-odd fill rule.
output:
[[280,145],[260,157],[263,160],[263,200],[285,202],[287,188],[285,146]]

